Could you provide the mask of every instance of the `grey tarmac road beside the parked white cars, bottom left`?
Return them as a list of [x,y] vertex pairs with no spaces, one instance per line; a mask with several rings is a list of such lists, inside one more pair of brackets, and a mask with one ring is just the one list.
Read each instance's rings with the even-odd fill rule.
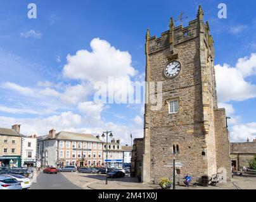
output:
[[81,189],[72,182],[68,181],[61,173],[58,174],[44,174],[37,175],[36,182],[34,182],[30,189]]

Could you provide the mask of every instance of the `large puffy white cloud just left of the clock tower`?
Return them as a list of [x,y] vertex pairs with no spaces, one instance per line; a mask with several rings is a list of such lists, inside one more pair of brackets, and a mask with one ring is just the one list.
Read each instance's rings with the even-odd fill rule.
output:
[[132,57],[127,51],[112,47],[106,40],[93,39],[91,49],[79,50],[75,56],[67,56],[67,64],[63,68],[63,76],[70,79],[87,81],[94,85],[103,81],[108,87],[108,79],[113,78],[114,92],[132,93],[131,77],[137,71],[132,67]]

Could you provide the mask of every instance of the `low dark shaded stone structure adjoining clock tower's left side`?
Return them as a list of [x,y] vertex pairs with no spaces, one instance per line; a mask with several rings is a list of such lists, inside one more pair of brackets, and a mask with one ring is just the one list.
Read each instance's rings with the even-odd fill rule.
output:
[[135,138],[132,145],[131,176],[136,177],[141,172],[143,160],[143,138]]

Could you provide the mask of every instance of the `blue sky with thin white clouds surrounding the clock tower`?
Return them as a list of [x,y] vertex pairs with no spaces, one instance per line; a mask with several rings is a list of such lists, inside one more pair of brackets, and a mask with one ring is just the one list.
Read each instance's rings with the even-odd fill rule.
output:
[[[29,3],[37,5],[37,19],[27,17]],[[226,3],[227,19],[217,17],[219,3]],[[74,65],[67,56],[79,59],[77,51],[91,52],[93,39],[100,39],[94,40],[96,46],[105,40],[125,58],[125,52],[131,56],[124,77],[118,76],[141,81],[146,29],[160,37],[169,28],[170,16],[177,19],[181,11],[188,17],[186,26],[195,19],[199,4],[214,37],[217,90],[220,106],[232,117],[231,140],[256,138],[254,1],[0,0],[0,126],[20,123],[25,134],[46,134],[51,128],[88,133],[113,129],[128,143],[131,132],[142,137],[143,105],[94,105],[88,82],[101,70],[88,72],[94,80],[64,76],[64,67]]]

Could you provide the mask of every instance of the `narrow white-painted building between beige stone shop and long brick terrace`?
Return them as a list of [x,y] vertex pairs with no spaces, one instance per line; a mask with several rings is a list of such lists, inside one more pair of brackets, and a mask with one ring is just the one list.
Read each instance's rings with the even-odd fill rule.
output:
[[22,167],[35,166],[37,155],[37,136],[22,136]]

